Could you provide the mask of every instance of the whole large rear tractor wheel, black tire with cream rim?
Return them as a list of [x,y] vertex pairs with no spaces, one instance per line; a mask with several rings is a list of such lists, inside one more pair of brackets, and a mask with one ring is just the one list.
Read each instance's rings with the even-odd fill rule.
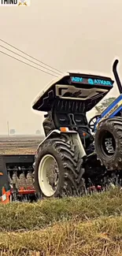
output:
[[83,194],[83,159],[64,136],[47,139],[35,160],[35,190],[41,197],[62,197]]

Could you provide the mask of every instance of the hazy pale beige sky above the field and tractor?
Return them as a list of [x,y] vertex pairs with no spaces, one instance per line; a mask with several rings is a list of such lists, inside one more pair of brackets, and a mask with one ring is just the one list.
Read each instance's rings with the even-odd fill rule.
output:
[[[119,58],[122,77],[121,10],[121,0],[31,0],[29,7],[0,6],[0,39],[63,72],[81,70],[113,79],[113,61]],[[2,46],[0,51],[11,54]],[[52,79],[0,53],[0,134],[7,133],[7,121],[19,134],[43,132],[43,113],[33,111],[31,103]],[[107,97],[117,95],[114,83]],[[93,115],[91,110],[88,117]]]

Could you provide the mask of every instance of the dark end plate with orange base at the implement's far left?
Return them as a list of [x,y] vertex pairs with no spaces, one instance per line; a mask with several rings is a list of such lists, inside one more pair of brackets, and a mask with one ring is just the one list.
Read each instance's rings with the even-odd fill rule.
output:
[[10,201],[10,186],[6,170],[6,163],[0,156],[0,202],[5,204]]

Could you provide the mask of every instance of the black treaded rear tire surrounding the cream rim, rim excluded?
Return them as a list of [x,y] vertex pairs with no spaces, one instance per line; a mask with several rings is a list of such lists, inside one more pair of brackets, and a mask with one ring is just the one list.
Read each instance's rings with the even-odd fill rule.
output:
[[72,144],[70,137],[67,139],[64,137],[64,139],[47,139],[39,148],[39,153],[35,160],[35,190],[38,195],[41,197],[47,196],[43,194],[39,185],[39,163],[47,154],[55,158],[59,170],[59,180],[53,197],[83,194],[83,159],[79,158],[79,152]]

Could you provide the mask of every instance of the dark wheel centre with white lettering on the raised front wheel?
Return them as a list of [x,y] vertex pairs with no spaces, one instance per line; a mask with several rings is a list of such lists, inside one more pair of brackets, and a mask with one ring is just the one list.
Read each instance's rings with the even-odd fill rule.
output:
[[109,158],[113,157],[113,154],[115,154],[116,151],[116,141],[111,132],[104,131],[101,134],[100,147],[102,150],[102,154]]

